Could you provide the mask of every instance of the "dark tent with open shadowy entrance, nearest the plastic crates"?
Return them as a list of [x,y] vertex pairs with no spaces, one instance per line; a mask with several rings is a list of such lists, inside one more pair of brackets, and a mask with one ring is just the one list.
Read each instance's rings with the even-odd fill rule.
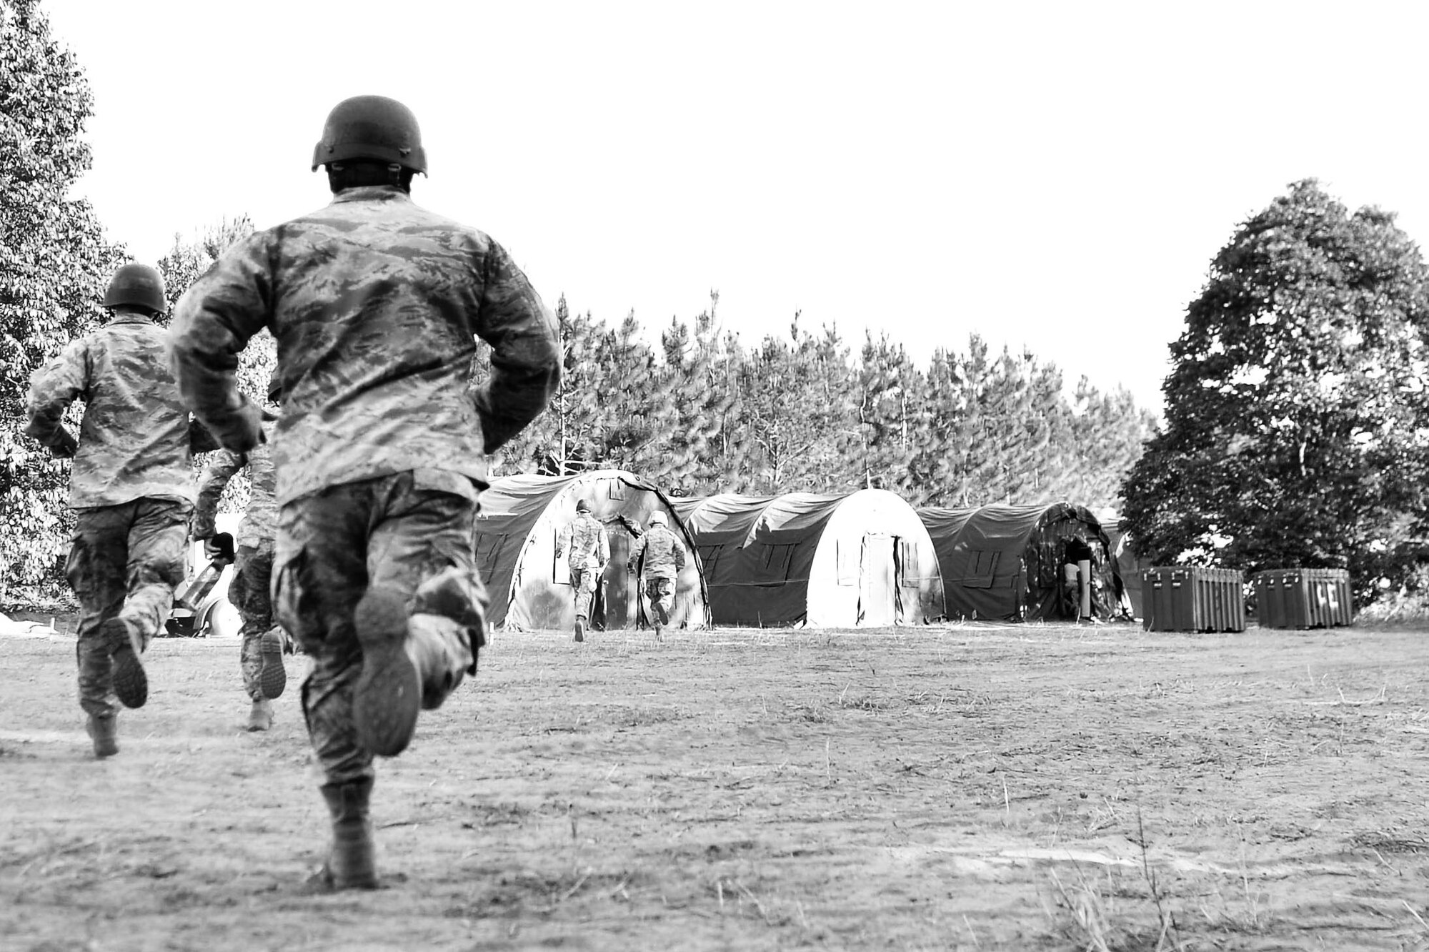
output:
[[1076,618],[1062,602],[1070,539],[1092,549],[1092,613],[1125,618],[1110,540],[1083,506],[980,506],[917,510],[937,552],[947,618],[1035,620]]

